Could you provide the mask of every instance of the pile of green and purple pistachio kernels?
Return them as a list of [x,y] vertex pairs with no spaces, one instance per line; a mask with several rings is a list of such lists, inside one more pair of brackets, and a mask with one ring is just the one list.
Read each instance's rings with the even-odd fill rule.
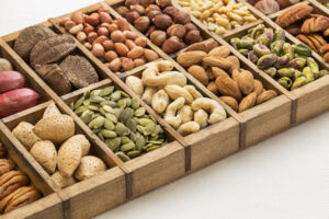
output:
[[285,43],[281,28],[266,28],[263,24],[249,30],[241,38],[231,38],[231,45],[265,73],[275,78],[287,90],[300,88],[325,74],[311,58],[305,44]]

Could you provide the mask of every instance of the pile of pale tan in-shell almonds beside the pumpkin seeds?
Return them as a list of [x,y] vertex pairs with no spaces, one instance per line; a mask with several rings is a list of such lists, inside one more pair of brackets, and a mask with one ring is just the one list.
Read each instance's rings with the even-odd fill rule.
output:
[[101,159],[88,155],[90,142],[84,135],[75,135],[75,126],[73,119],[52,103],[35,125],[21,122],[12,131],[60,187],[106,170]]

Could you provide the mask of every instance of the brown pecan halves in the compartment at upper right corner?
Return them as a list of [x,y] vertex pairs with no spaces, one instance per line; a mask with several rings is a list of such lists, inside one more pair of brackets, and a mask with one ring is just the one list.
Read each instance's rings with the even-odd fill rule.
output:
[[[313,14],[311,5],[297,5],[280,14],[276,23],[287,32],[324,56],[329,62],[329,16]],[[291,18],[291,14],[294,14]]]

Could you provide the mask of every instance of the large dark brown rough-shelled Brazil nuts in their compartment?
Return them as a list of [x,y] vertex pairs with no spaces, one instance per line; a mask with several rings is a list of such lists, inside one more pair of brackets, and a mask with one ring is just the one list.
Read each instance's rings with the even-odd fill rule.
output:
[[44,25],[24,28],[13,48],[58,95],[71,92],[72,87],[81,89],[99,80],[84,57],[70,55],[76,49],[75,41]]

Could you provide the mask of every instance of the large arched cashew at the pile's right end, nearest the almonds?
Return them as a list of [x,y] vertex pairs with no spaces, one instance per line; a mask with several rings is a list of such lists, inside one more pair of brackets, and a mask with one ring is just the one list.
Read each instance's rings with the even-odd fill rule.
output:
[[208,123],[215,124],[226,118],[226,112],[223,106],[216,101],[207,97],[196,99],[192,103],[192,110],[198,111],[200,108],[211,113]]

